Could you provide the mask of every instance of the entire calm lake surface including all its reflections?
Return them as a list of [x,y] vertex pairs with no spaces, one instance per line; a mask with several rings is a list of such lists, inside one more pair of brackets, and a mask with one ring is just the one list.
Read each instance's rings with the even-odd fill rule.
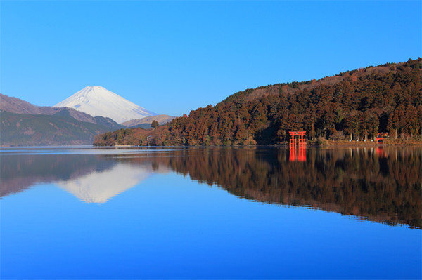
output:
[[0,279],[421,279],[421,147],[1,149]]

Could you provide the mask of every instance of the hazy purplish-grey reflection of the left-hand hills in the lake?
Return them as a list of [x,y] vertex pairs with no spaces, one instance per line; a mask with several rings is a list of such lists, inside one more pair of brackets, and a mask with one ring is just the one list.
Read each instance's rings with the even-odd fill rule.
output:
[[71,180],[113,166],[113,161],[101,159],[87,154],[2,155],[0,197],[39,183]]

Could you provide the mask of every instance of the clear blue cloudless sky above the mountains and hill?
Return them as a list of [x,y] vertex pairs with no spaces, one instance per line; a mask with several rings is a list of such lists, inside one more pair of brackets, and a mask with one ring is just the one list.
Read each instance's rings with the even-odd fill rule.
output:
[[103,86],[180,116],[246,88],[422,56],[422,1],[0,1],[0,92]]

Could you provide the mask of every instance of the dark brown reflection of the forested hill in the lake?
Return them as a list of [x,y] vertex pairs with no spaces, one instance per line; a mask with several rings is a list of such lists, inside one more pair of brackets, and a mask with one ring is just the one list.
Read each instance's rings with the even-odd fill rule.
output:
[[246,199],[421,228],[421,150],[376,152],[307,149],[302,163],[289,162],[285,149],[185,149],[148,160]]

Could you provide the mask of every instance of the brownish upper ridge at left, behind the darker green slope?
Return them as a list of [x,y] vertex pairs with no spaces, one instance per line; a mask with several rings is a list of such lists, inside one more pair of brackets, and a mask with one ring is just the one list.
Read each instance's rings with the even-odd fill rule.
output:
[[78,121],[86,121],[92,124],[99,124],[101,126],[107,126],[112,129],[121,128],[113,119],[105,118],[103,116],[90,116],[84,112],[79,112],[75,109],[62,107],[39,107],[32,105],[30,102],[20,100],[19,98],[9,97],[0,93],[0,110],[11,112],[15,114],[46,114],[56,116],[71,116]]

